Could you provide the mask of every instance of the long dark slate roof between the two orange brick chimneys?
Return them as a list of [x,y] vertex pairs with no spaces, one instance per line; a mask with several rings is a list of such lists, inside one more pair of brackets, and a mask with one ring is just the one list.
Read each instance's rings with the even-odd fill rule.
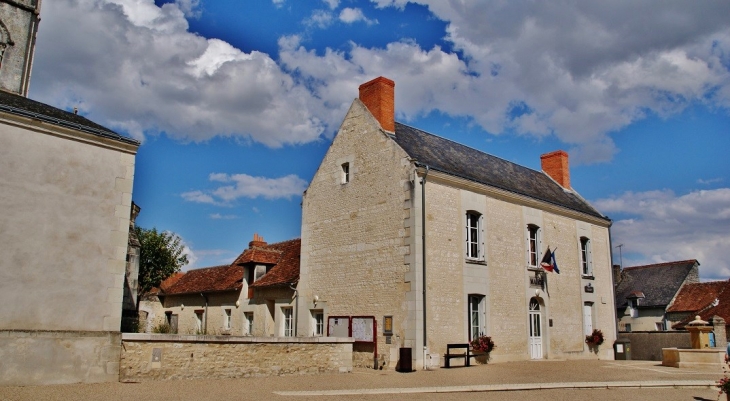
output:
[[542,171],[398,122],[393,139],[418,164],[432,170],[609,220],[577,193],[565,190]]

